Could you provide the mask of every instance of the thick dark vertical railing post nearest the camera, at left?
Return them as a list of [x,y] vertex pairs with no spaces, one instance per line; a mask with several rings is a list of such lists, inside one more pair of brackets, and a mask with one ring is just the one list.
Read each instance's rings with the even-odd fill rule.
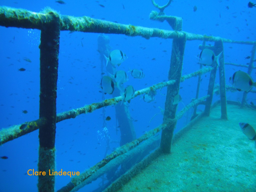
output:
[[49,170],[55,169],[56,98],[59,61],[60,19],[53,12],[47,13],[47,21],[41,28],[40,48],[40,109],[39,117],[46,118],[39,128],[38,171],[46,175],[38,177],[39,192],[54,192],[55,177]]

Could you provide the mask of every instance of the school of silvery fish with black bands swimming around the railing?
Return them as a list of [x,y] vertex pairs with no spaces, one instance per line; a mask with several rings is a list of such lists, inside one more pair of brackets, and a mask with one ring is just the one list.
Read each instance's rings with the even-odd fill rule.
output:
[[[219,55],[215,56],[214,52],[210,49],[203,49],[200,54],[197,56],[199,60],[199,64],[203,66],[211,66],[217,67],[219,66],[220,57],[222,56],[222,51]],[[116,66],[120,66],[123,63],[127,56],[121,50],[113,50],[110,52],[109,56],[105,56],[106,66],[108,63],[111,63],[112,67],[116,68]],[[142,69],[132,69],[129,70],[131,76],[137,79],[143,79],[145,74]],[[128,105],[131,99],[134,98],[135,89],[133,86],[127,86],[124,88],[124,83],[129,80],[127,73],[123,70],[118,70],[115,74],[109,74],[108,76],[103,76],[101,79],[100,87],[102,91],[106,94],[112,94],[114,89],[117,88],[120,90],[120,94],[122,96],[121,104]],[[243,71],[234,72],[233,76],[229,78],[229,83],[232,84],[234,88],[238,91],[246,91],[249,92],[253,87],[256,87],[256,82],[253,81],[252,77]],[[143,100],[147,103],[150,103],[155,100],[156,91],[150,91],[149,93],[143,96]],[[172,105],[177,105],[182,101],[182,97],[177,94],[172,96]],[[256,148],[256,138],[255,138],[255,130],[248,123],[239,123],[243,133],[250,139],[255,140],[255,148]]]

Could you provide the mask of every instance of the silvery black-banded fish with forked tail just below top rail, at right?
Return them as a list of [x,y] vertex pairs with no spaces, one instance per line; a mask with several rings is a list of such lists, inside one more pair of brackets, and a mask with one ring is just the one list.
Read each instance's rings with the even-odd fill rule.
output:
[[199,54],[199,63],[206,66],[212,66],[213,63],[216,61],[217,66],[219,66],[219,59],[220,55],[222,54],[222,51],[219,55],[215,56],[214,52],[210,49],[203,49]]

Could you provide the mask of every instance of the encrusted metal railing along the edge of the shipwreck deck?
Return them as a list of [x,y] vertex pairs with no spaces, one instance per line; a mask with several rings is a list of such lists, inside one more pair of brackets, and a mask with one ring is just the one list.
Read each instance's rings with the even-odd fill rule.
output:
[[[153,1],[153,0],[152,0]],[[161,8],[163,12],[164,8]],[[160,10],[160,12],[161,12]],[[57,93],[57,77],[58,77],[58,54],[59,54],[59,35],[61,30],[81,31],[90,33],[105,33],[105,34],[124,34],[127,36],[141,36],[146,39],[150,37],[171,38],[173,39],[172,57],[170,63],[169,79],[167,82],[161,82],[151,87],[136,91],[135,97],[148,93],[149,91],[167,87],[167,96],[165,102],[165,114],[162,125],[147,132],[140,138],[119,147],[116,151],[106,156],[101,162],[89,168],[80,176],[73,177],[71,182],[59,191],[71,191],[80,185],[95,180],[105,172],[98,172],[100,168],[106,166],[110,161],[120,157],[122,154],[132,150],[142,141],[155,135],[163,130],[161,138],[160,151],[169,153],[173,138],[173,130],[176,122],[182,115],[191,107],[196,107],[198,104],[205,104],[204,115],[209,115],[212,104],[212,96],[215,92],[220,93],[221,100],[221,118],[227,119],[226,111],[226,86],[225,86],[225,68],[223,57],[220,60],[219,76],[220,87],[214,89],[215,75],[217,66],[211,68],[202,68],[199,71],[193,72],[186,76],[181,76],[183,55],[187,40],[202,40],[214,41],[215,46],[208,47],[214,50],[215,54],[223,51],[223,43],[247,44],[253,45],[251,61],[248,66],[248,73],[251,73],[253,67],[253,59],[255,54],[255,42],[251,41],[233,41],[230,39],[198,35],[180,31],[182,28],[182,19],[178,17],[167,17],[165,15],[157,15],[155,12],[151,14],[151,19],[173,21],[172,27],[174,30],[162,30],[156,28],[146,28],[142,26],[124,25],[91,17],[73,17],[68,15],[60,15],[59,13],[49,8],[42,13],[35,13],[25,9],[16,9],[11,7],[0,7],[0,25],[5,27],[21,27],[41,30],[41,45],[40,45],[40,110],[39,119],[31,122],[24,122],[20,125],[14,125],[9,128],[0,130],[0,144],[4,144],[36,129],[39,129],[39,162],[38,169],[47,170],[55,167],[55,133],[56,123],[65,119],[75,118],[82,113],[92,112],[103,106],[114,105],[122,100],[122,97],[115,97],[104,100],[99,103],[92,103],[84,107],[56,114],[56,93]],[[46,43],[46,42],[51,42]],[[206,47],[205,44],[202,48]],[[200,48],[200,47],[199,47]],[[229,65],[236,65],[227,63]],[[247,66],[240,66],[247,67]],[[179,83],[185,79],[199,76],[203,73],[210,72],[210,80],[208,94],[202,98],[197,97],[189,103],[182,111],[176,114],[177,105],[171,105],[171,95],[179,93]],[[200,79],[198,79],[198,90]],[[198,91],[197,91],[198,92]],[[245,100],[246,93],[243,100]],[[206,100],[206,101],[205,101]],[[243,102],[242,102],[243,104]],[[21,129],[22,128],[22,129]],[[119,162],[120,163],[120,162]],[[93,176],[94,175],[94,176]],[[93,176],[93,177],[92,177]],[[91,180],[90,180],[91,178]],[[55,180],[51,176],[39,176],[38,188],[39,191],[54,191]]]

